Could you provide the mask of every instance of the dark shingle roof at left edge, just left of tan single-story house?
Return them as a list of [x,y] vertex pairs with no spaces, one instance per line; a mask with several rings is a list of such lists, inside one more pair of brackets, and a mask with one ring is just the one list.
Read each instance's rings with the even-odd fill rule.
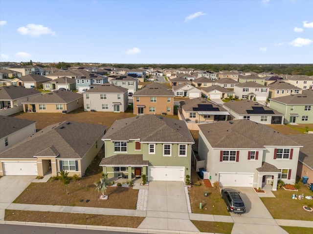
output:
[[26,89],[22,86],[2,86],[0,87],[0,100],[15,100],[40,94],[36,89]]

